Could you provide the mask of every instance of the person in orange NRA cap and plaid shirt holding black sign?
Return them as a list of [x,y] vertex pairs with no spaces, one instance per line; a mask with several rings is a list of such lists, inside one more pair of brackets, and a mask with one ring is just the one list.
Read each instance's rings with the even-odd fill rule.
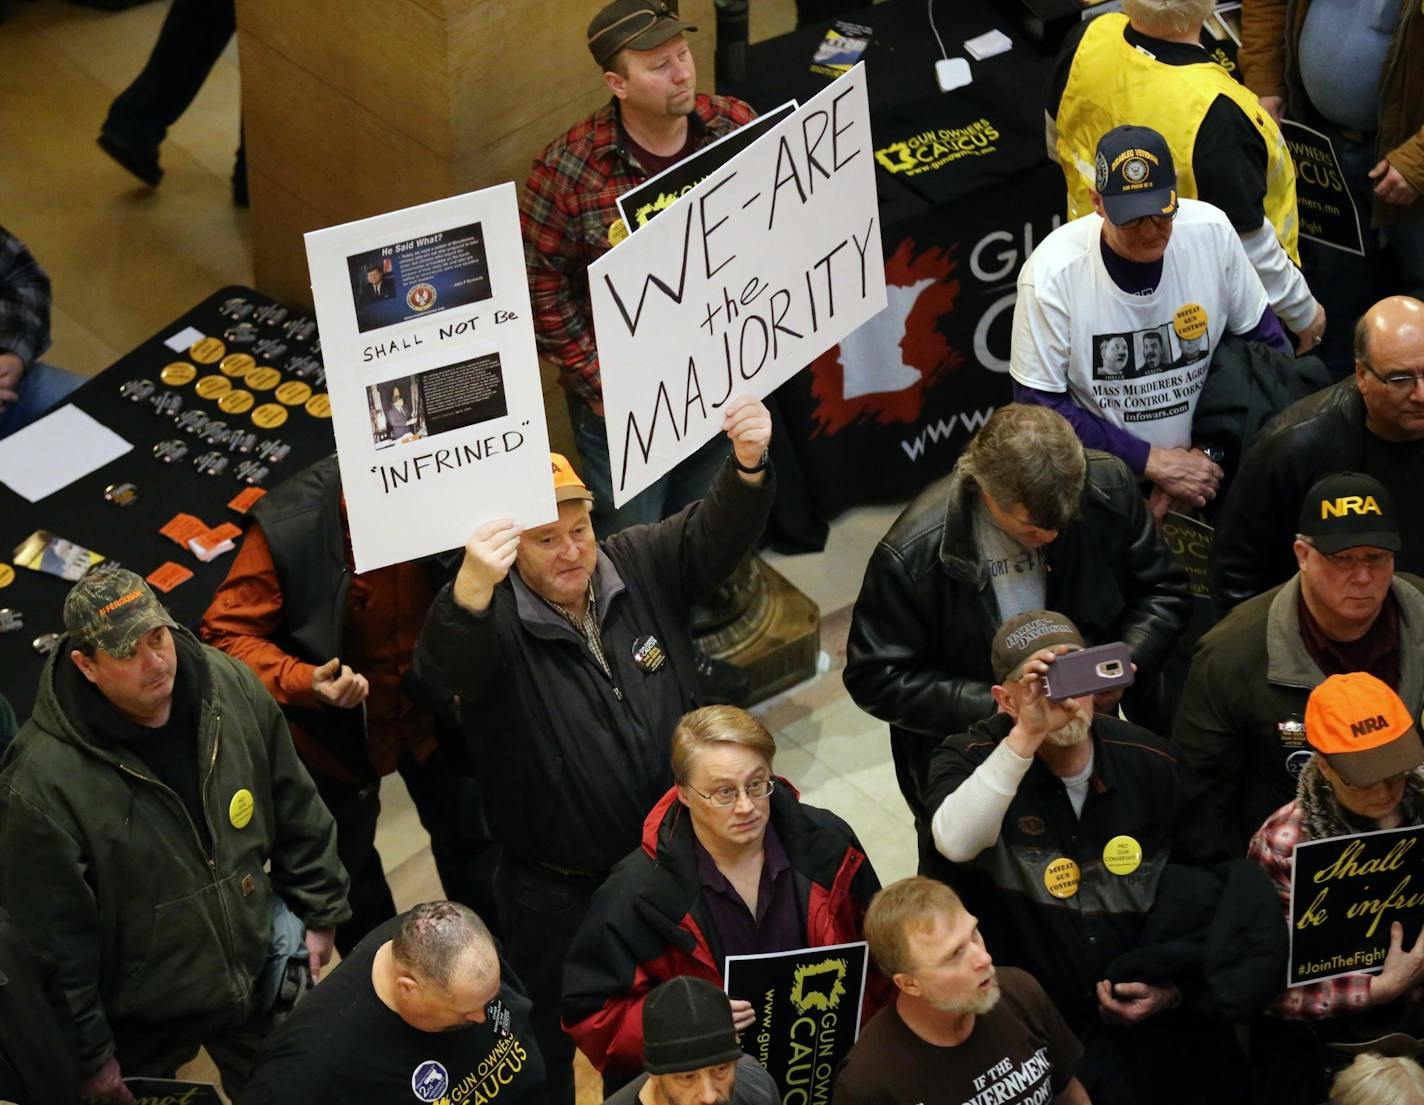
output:
[[[1270,876],[1290,923],[1296,846],[1336,836],[1424,824],[1424,745],[1408,708],[1368,672],[1331,675],[1310,692],[1306,739],[1314,755],[1302,768],[1296,800],[1276,810],[1250,842],[1250,857]],[[1341,948],[1344,951],[1344,948]],[[1407,1001],[1424,985],[1424,934],[1407,946],[1404,927],[1390,926],[1390,950],[1378,974],[1324,978],[1290,987],[1270,1007],[1289,1021],[1326,1021]],[[1366,1038],[1390,1031],[1388,1017]],[[1327,1030],[1349,1037],[1347,1025]],[[1310,1101],[1317,1101],[1312,1096]]]

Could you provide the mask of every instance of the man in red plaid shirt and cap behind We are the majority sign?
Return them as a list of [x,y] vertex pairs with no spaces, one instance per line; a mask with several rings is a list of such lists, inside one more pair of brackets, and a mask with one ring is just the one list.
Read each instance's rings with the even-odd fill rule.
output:
[[695,30],[659,0],[614,0],[594,16],[588,50],[612,100],[538,155],[520,204],[534,335],[540,353],[560,367],[602,535],[658,521],[702,498],[726,456],[725,441],[709,441],[612,508],[588,298],[588,265],[628,236],[617,198],[755,117],[740,100],[698,94],[696,64],[682,37]]

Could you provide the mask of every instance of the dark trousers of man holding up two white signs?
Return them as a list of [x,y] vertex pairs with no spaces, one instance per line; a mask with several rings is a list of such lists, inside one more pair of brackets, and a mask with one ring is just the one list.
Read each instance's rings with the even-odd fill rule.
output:
[[508,852],[494,876],[504,954],[534,1002],[530,1031],[544,1052],[544,1105],[574,1105],[574,1041],[560,1027],[564,960],[598,883],[554,874]]

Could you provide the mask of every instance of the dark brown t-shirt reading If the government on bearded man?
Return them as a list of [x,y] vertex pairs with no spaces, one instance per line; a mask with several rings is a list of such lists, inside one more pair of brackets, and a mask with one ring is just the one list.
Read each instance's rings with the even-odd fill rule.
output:
[[842,1064],[832,1105],[1047,1105],[1082,1047],[1032,975],[1001,967],[998,985],[998,1004],[953,1048],[926,1042],[887,1005]]

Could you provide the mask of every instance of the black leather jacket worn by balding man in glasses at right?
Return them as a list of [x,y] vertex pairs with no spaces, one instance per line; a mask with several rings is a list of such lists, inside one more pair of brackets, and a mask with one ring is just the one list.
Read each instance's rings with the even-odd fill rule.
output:
[[1300,501],[1330,473],[1363,468],[1366,433],[1353,376],[1286,407],[1260,431],[1212,538],[1212,599],[1222,612],[1296,574]]

